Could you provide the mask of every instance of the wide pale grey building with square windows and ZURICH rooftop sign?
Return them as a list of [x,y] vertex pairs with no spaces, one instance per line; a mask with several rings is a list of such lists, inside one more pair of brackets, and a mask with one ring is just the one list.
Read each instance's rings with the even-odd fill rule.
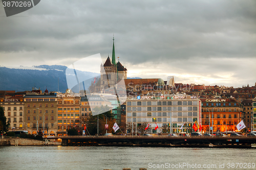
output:
[[172,133],[178,133],[184,123],[181,132],[187,132],[196,120],[201,124],[200,110],[200,100],[195,96],[137,96],[126,101],[126,124],[140,126],[147,122],[151,125],[147,133],[158,133],[162,127],[169,127],[172,123]]

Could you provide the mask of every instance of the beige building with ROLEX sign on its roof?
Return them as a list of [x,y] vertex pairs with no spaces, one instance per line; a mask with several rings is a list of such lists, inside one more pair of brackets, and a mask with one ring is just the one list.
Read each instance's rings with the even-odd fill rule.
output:
[[9,130],[24,130],[24,101],[23,95],[11,96],[8,99],[0,99],[0,106],[4,108]]

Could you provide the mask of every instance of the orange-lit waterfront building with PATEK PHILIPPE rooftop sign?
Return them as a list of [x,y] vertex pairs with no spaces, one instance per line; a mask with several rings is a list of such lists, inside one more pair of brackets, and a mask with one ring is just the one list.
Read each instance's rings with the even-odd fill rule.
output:
[[66,93],[57,94],[57,135],[67,135],[67,129],[79,125],[80,100],[80,94],[70,89]]

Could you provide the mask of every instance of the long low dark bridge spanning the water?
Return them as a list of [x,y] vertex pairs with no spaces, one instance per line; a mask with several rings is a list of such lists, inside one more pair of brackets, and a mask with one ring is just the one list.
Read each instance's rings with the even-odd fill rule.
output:
[[139,146],[139,147],[223,147],[251,148],[253,136],[49,136],[69,146]]

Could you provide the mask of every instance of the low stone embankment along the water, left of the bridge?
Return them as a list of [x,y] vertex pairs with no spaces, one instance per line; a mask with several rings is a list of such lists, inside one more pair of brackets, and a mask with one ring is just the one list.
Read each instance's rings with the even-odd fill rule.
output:
[[55,142],[55,140],[48,140],[47,144],[45,140],[11,137],[0,139],[0,145],[61,145],[61,142]]

